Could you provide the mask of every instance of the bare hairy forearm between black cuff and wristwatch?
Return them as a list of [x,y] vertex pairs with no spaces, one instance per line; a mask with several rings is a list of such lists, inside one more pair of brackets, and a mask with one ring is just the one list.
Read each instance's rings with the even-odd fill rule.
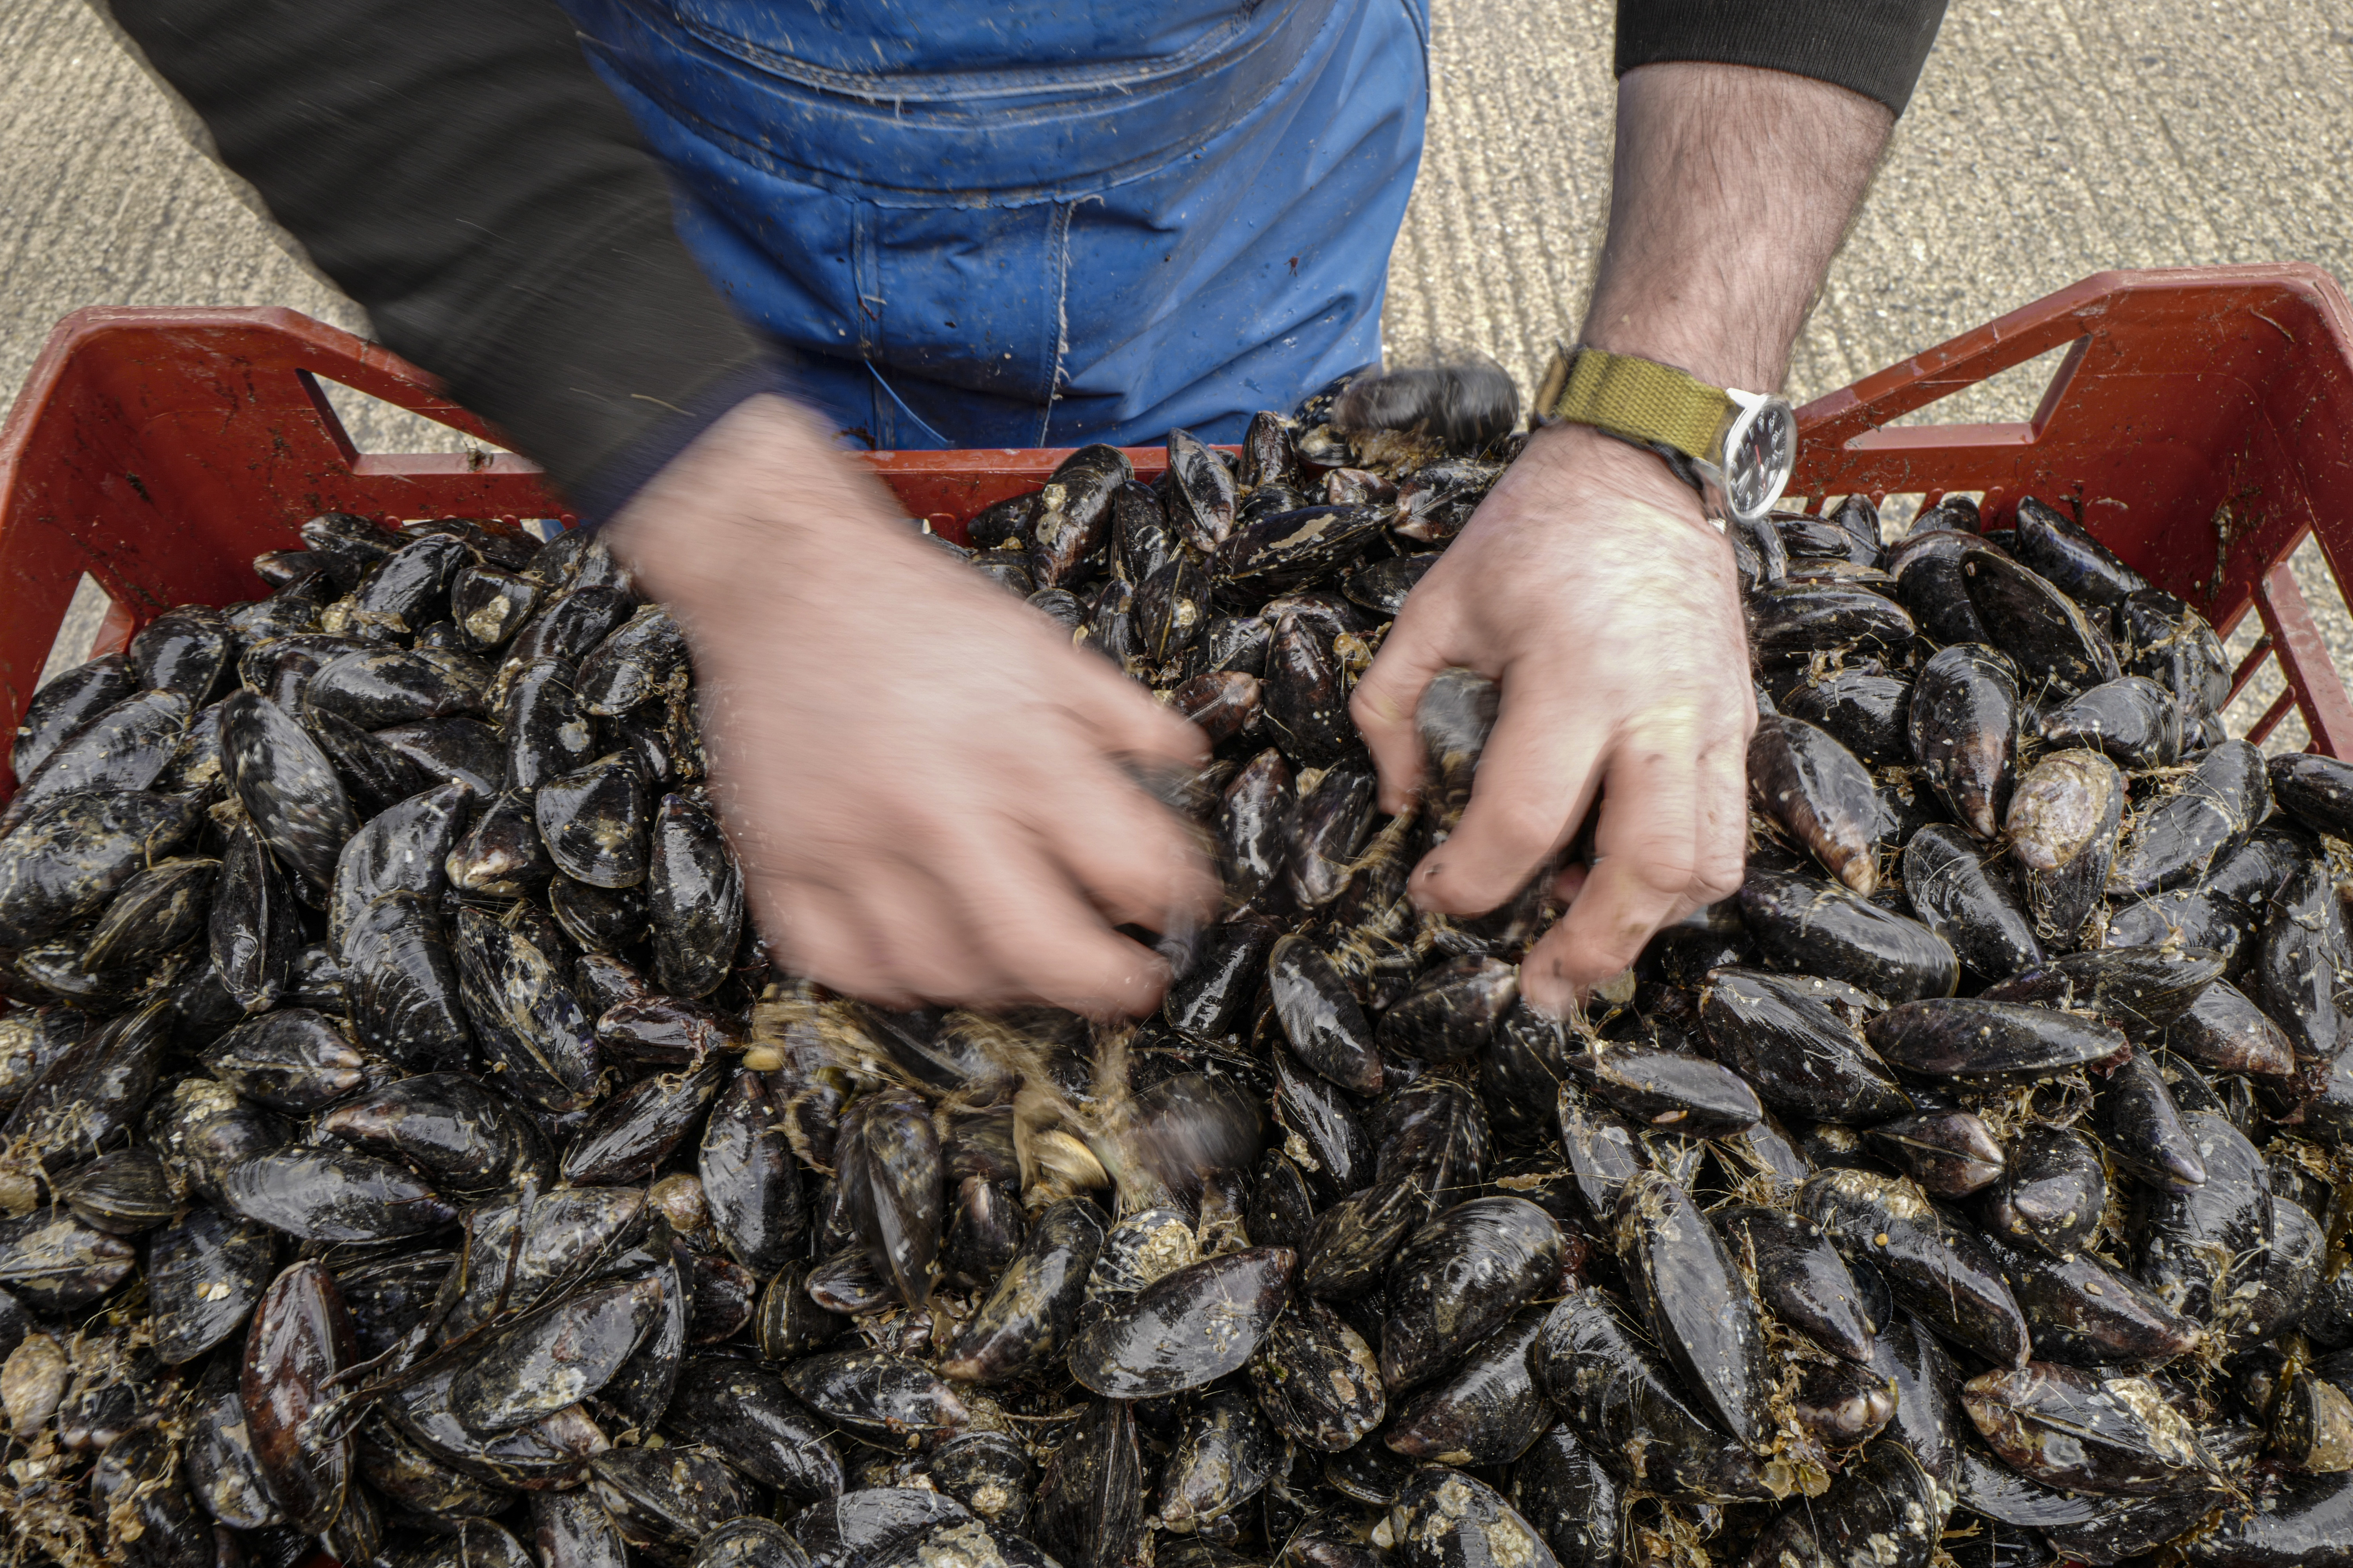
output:
[[1581,341],[1777,390],[1892,127],[1887,106],[1784,71],[1628,71]]

